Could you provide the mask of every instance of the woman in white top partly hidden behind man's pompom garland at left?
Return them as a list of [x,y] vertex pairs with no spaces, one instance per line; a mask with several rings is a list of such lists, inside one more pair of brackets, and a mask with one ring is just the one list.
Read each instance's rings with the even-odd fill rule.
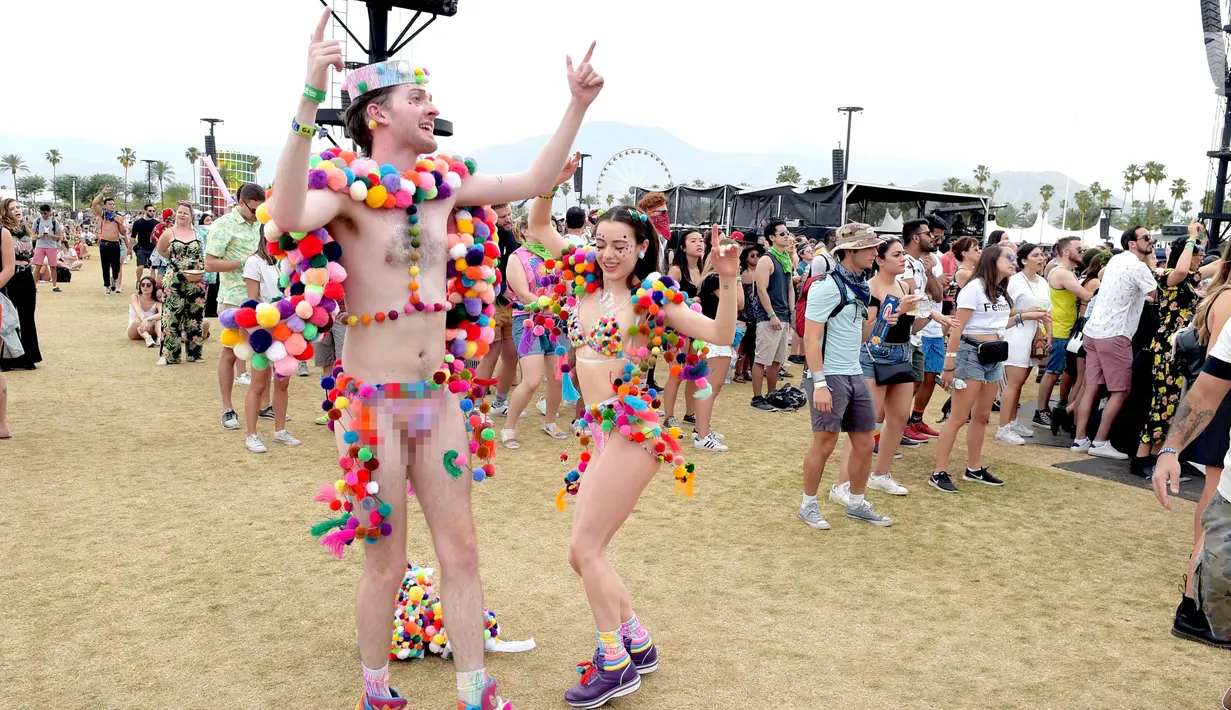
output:
[[[256,253],[247,257],[244,262],[244,283],[247,284],[249,300],[271,303],[282,297],[282,289],[278,288],[279,273],[276,263],[275,258],[270,256],[270,251],[265,247],[265,226],[262,225]],[[252,368],[252,384],[249,385],[247,395],[244,400],[244,422],[247,425],[247,439],[244,444],[254,454],[263,454],[268,450],[265,448],[261,436],[256,433],[257,417],[273,420],[275,442],[288,447],[299,445],[299,439],[291,436],[286,423],[291,418],[287,416],[291,380],[287,378],[273,378],[273,404],[272,406],[261,406],[267,401],[266,393],[270,389],[272,374],[272,367],[267,367],[263,370]]]

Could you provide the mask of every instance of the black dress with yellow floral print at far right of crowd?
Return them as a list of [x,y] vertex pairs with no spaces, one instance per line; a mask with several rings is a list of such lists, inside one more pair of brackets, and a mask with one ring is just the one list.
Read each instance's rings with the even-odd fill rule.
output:
[[1153,395],[1150,399],[1150,416],[1146,418],[1141,443],[1162,444],[1167,438],[1171,417],[1179,406],[1179,391],[1184,378],[1179,375],[1172,354],[1171,338],[1193,320],[1197,310],[1198,276],[1189,273],[1179,285],[1167,285],[1167,276],[1174,269],[1165,269],[1158,277],[1158,332],[1150,340],[1153,358]]

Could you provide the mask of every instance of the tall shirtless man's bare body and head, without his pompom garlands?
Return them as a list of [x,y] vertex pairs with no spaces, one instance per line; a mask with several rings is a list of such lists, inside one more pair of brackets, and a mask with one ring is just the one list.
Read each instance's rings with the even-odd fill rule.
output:
[[[308,50],[307,84],[316,89],[327,86],[330,66],[342,70],[339,43],[324,39],[329,16],[327,10],[321,15]],[[447,223],[455,205],[507,203],[550,192],[586,108],[603,86],[602,78],[590,65],[592,52],[593,46],[576,69],[569,59],[569,107],[529,170],[507,176],[471,175],[452,191],[452,197],[417,205],[422,237],[415,240],[421,242],[416,265],[421,269],[419,284],[423,301],[444,299]],[[425,85],[406,82],[368,90],[367,84],[357,84],[356,87],[358,91],[351,92],[346,126],[364,153],[379,164],[406,171],[420,155],[436,150],[433,124],[438,111]],[[298,124],[311,126],[316,107],[311,100],[302,98],[295,112]],[[310,153],[311,142],[302,134],[292,133],[287,138],[275,178],[278,187],[268,204],[271,219],[286,231],[329,225],[330,234],[343,250],[342,266],[351,274],[346,282],[347,311],[379,313],[401,306],[414,249],[406,213],[372,209],[343,192],[309,189]],[[444,357],[444,321],[443,313],[416,313],[350,329],[343,346],[347,375],[367,383],[430,379]],[[380,465],[372,471],[372,480],[383,491],[398,491],[405,489],[409,477],[423,509],[443,576],[442,603],[449,610],[449,645],[458,671],[459,710],[503,710],[507,704],[497,698],[495,682],[486,677],[483,664],[483,589],[470,512],[470,480],[467,476],[453,480],[442,463],[443,452],[465,450],[465,427],[455,395],[438,390],[430,397],[435,400],[437,418],[427,433],[407,432],[405,415],[393,411],[393,405],[372,404],[375,410],[372,426],[378,429],[379,441],[385,442],[378,447]],[[342,428],[339,427],[340,434]],[[406,496],[389,495],[385,502],[393,507],[385,517],[391,535],[375,544],[361,545],[366,557],[355,608],[364,676],[359,710],[406,708],[405,699],[393,698],[388,669],[389,619],[406,572]]]

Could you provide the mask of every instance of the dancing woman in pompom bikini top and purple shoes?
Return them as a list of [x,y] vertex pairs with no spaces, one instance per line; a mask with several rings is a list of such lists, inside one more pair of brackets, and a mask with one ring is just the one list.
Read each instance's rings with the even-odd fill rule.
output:
[[[735,336],[739,288],[735,277],[740,271],[740,252],[737,247],[721,246],[720,236],[715,225],[710,234],[710,244],[715,252],[714,267],[720,281],[716,317],[705,317],[677,300],[664,298],[659,303],[664,304],[661,313],[665,315],[666,326],[707,342],[730,345]],[[583,253],[588,261],[590,252]],[[625,377],[627,362],[638,361],[636,364],[628,365],[634,373],[632,386],[640,388],[649,378],[649,357],[646,357],[649,353],[643,349],[645,338],[641,336],[629,338],[628,331],[639,321],[632,303],[634,292],[657,271],[659,235],[648,215],[634,208],[619,205],[598,218],[592,253],[595,253],[592,262],[595,271],[591,273],[597,288],[581,298],[570,314],[570,317],[577,320],[572,332],[587,335],[585,345],[577,349],[576,372],[581,394],[587,402],[603,402],[597,406],[591,405],[591,412],[608,406],[609,399],[614,399],[613,389],[628,386],[622,380]],[[666,284],[670,281],[668,277],[662,277],[660,283]],[[661,292],[656,290],[655,295],[657,293]],[[598,338],[588,337],[593,333],[595,324],[603,319],[614,321],[617,326],[614,332],[609,336],[599,335]],[[612,341],[617,337],[622,338],[619,345],[624,356],[603,357],[608,352],[614,352],[616,343]],[[596,352],[596,346],[599,352]],[[616,385],[616,380],[620,380],[622,384]],[[655,422],[656,415],[641,400],[632,401],[627,407],[619,409],[629,400],[634,397],[624,395],[611,405],[618,409],[622,418],[628,417],[632,421],[638,415],[643,416],[636,431],[632,431],[633,427],[627,425],[613,427],[607,438],[598,422],[591,423],[596,443],[603,438],[607,438],[607,442],[604,447],[599,447],[592,460],[580,466],[585,471],[585,480],[577,491],[572,514],[569,564],[585,584],[601,645],[592,662],[586,666],[581,679],[565,693],[565,701],[577,708],[592,706],[595,700],[607,693],[623,695],[636,690],[640,684],[639,673],[649,673],[657,667],[654,642],[633,613],[628,591],[607,557],[607,543],[628,518],[660,464],[660,459],[648,448],[632,441],[644,437],[644,429],[640,427],[646,422]],[[619,421],[616,420],[616,423]],[[678,438],[678,431],[673,434]],[[650,444],[649,437],[645,439],[645,444]],[[657,444],[659,439],[654,439],[651,445]],[[625,639],[629,644],[627,651]]]

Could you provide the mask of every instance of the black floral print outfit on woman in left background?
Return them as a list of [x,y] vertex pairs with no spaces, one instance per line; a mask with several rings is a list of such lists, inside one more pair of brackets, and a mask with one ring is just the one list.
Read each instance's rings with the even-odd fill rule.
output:
[[172,239],[166,249],[166,293],[162,297],[162,357],[166,364],[180,362],[183,349],[190,361],[201,359],[201,324],[206,317],[206,282],[188,281],[181,272],[206,268],[201,240]]

